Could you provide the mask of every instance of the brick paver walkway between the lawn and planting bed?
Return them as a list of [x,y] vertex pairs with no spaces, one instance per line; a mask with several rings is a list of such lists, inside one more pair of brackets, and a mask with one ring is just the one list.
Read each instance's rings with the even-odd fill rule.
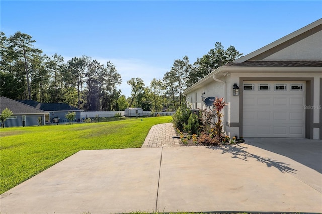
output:
[[175,135],[172,123],[154,125],[146,136],[142,148],[179,146],[179,139],[172,138]]

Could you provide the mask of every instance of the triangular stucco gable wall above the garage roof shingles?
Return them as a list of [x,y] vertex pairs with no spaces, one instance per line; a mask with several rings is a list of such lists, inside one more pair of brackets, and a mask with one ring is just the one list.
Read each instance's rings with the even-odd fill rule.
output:
[[322,60],[322,31],[306,37],[263,60]]

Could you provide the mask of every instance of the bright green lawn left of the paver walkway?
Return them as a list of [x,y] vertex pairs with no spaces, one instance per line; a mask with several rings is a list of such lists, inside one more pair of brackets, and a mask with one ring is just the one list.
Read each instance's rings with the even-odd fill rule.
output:
[[141,147],[171,116],[0,129],[0,194],[80,150]]

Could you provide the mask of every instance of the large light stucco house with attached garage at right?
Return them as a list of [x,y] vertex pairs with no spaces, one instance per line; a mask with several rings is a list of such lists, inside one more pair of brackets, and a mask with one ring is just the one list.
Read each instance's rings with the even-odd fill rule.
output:
[[217,68],[184,94],[192,109],[224,97],[230,136],[322,139],[322,19]]

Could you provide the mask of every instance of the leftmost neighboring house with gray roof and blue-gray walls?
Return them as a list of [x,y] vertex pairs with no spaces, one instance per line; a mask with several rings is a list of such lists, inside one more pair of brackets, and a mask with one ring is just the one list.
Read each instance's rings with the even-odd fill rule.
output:
[[5,127],[44,125],[49,113],[21,102],[0,97],[0,112],[10,109],[13,114],[5,121]]

